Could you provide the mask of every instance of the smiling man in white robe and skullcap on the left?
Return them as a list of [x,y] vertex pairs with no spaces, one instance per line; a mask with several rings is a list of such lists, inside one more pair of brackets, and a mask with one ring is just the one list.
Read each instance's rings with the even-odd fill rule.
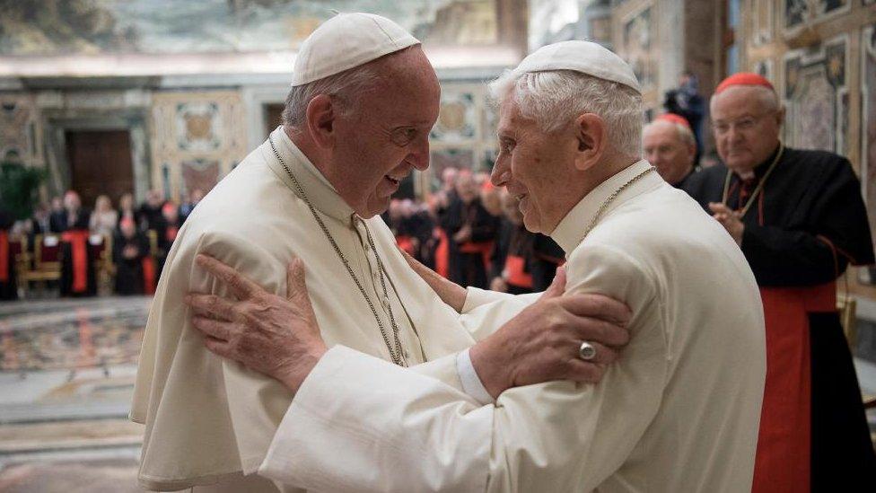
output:
[[[287,293],[287,264],[304,260],[309,320],[322,329],[320,344],[410,366],[405,371],[425,375],[426,386],[457,389],[450,392],[460,412],[478,406],[462,389],[463,381],[477,381],[477,371],[494,375],[485,383],[502,390],[560,378],[595,381],[616,357],[613,348],[626,343],[624,304],[600,295],[560,297],[558,283],[502,329],[485,327],[492,335],[475,345],[465,317],[442,303],[396,249],[379,214],[399,180],[428,165],[438,114],[438,81],[418,45],[376,15],[340,14],[325,22],[296,60],[284,126],[216,185],[180,230],[147,322],[131,412],[146,425],[139,473],[146,489],[298,491],[294,483],[275,485],[254,474],[294,389],[205,348],[184,297],[199,291],[219,299],[232,291],[197,267],[198,253],[276,295]],[[248,306],[253,320],[279,313],[267,302]],[[583,340],[599,350],[588,361],[576,357]],[[472,345],[479,360],[469,357]],[[278,361],[275,348],[253,348],[274,365],[253,367],[269,374],[315,362],[311,354]],[[495,367],[487,372],[485,364]],[[480,434],[470,437],[454,446],[489,450]],[[345,467],[347,454],[332,454]],[[438,463],[436,471],[451,474],[449,456]],[[460,470],[460,484],[469,484],[466,478]]]

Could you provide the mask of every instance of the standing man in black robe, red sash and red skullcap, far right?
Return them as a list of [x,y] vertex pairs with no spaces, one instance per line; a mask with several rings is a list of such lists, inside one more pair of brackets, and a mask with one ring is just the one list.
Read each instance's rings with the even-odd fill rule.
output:
[[768,371],[753,490],[858,490],[872,483],[876,454],[837,278],[876,260],[861,182],[843,156],[784,145],[784,108],[761,75],[730,75],[710,108],[723,163],[685,190],[739,243],[764,303]]

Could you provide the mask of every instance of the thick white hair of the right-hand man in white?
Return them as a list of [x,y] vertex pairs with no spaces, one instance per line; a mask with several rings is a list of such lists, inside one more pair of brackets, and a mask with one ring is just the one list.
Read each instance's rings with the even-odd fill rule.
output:
[[546,133],[583,113],[599,115],[609,129],[610,147],[621,154],[641,155],[642,95],[624,84],[573,70],[506,70],[489,87],[495,102],[513,98],[521,114],[534,119]]

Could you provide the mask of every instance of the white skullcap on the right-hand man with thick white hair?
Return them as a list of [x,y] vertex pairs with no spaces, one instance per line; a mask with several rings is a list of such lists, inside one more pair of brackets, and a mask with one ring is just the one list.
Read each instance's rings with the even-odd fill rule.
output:
[[642,93],[633,68],[621,57],[590,41],[561,41],[541,47],[523,58],[514,72],[574,70],[582,74],[624,84]]

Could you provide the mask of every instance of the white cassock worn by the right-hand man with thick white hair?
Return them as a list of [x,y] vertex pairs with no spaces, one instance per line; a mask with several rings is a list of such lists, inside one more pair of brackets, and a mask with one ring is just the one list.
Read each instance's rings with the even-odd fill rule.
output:
[[[603,201],[649,166],[602,183],[552,233],[568,252],[569,292],[610,295],[634,314],[631,342],[599,384],[512,388],[478,407],[451,381],[336,346],[294,397],[260,473],[333,493],[750,491],[766,350],[739,247],[654,172],[583,239]],[[463,321],[480,339],[522,305],[469,290]]]

